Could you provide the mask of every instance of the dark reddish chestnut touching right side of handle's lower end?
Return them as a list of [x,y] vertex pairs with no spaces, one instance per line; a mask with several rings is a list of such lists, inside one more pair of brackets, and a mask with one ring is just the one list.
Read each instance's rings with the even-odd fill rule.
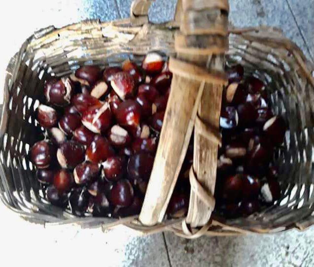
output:
[[243,176],[233,175],[225,179],[222,188],[222,197],[227,200],[237,200],[242,197]]

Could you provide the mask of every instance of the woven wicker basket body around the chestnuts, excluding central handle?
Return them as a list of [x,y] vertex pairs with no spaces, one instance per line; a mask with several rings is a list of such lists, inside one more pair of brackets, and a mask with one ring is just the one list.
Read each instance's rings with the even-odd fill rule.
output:
[[[181,1],[178,1],[181,3]],[[209,1],[210,2],[210,1]],[[213,1],[215,2],[215,1]],[[219,2],[219,1],[216,1]],[[27,155],[43,138],[34,111],[43,101],[44,81],[69,75],[84,64],[119,65],[126,58],[140,61],[148,51],[175,55],[178,23],[148,23],[149,0],[132,5],[131,18],[102,23],[83,21],[61,29],[39,30],[11,58],[5,77],[0,122],[0,198],[11,210],[33,223],[78,223],[83,227],[125,224],[143,233],[171,230],[194,238],[200,235],[233,235],[305,229],[314,222],[314,66],[278,29],[229,28],[227,62],[244,65],[246,74],[267,84],[275,114],[288,122],[284,145],[276,155],[282,196],[272,207],[248,218],[211,217],[203,227],[190,229],[184,218],[144,226],[137,217],[75,218],[43,198],[35,169]],[[181,7],[178,6],[177,14]],[[178,15],[176,17],[179,17]]]

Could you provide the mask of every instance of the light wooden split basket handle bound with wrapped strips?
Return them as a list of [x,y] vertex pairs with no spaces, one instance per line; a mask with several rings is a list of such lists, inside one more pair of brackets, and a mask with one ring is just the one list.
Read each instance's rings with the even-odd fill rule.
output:
[[[195,122],[197,135],[194,161],[197,163],[194,165],[194,171],[190,172],[193,203],[190,211],[198,209],[201,199],[201,205],[205,205],[207,209],[207,220],[205,223],[200,223],[204,225],[208,224],[210,217],[208,213],[214,206],[212,188],[214,188],[217,164],[217,145],[221,142],[217,134],[221,94],[222,85],[227,83],[222,71],[223,56],[214,54],[223,55],[228,49],[228,18],[226,12],[221,12],[219,9],[220,5],[217,7],[219,12],[213,12],[214,7],[208,5],[209,2],[219,4],[220,1],[182,1],[181,32],[175,37],[177,57],[171,58],[169,62],[170,70],[174,74],[171,93],[139,217],[144,225],[154,225],[164,219]],[[227,0],[222,2],[227,3],[228,6]],[[200,23],[197,12],[202,12],[202,17],[207,18],[206,21]],[[207,29],[211,30],[207,31]],[[205,170],[205,174],[200,175]],[[192,214],[195,212],[197,210]]]

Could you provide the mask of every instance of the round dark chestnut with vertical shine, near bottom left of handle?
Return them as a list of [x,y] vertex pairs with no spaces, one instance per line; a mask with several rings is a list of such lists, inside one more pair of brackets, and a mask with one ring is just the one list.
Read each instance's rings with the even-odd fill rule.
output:
[[128,207],[132,204],[134,190],[131,183],[126,180],[119,180],[110,191],[110,201],[117,207]]

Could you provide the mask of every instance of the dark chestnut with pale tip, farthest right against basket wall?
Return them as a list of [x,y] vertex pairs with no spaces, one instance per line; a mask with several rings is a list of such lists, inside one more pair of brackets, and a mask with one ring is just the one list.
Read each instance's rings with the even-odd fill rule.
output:
[[280,145],[283,142],[286,131],[283,118],[281,116],[272,117],[264,124],[263,131],[274,145]]

